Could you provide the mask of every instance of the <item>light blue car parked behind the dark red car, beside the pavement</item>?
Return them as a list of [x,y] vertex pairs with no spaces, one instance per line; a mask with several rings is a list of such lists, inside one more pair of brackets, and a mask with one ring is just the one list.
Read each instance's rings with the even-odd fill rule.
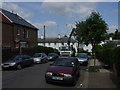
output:
[[87,53],[78,53],[77,57],[76,57],[80,63],[80,65],[88,65],[88,54]]

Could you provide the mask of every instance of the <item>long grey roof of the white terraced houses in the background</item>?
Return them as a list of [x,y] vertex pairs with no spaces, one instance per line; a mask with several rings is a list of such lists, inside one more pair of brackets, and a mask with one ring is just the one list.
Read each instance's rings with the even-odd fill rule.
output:
[[[71,39],[71,43],[75,43],[76,41]],[[38,43],[44,43],[44,39],[38,38]],[[68,43],[68,37],[63,38],[46,38],[45,43]]]

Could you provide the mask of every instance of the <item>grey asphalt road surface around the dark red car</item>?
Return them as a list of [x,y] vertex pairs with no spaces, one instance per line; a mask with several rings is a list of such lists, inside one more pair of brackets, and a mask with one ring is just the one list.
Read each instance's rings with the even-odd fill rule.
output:
[[3,71],[2,88],[80,88],[84,81],[84,69],[81,67],[81,75],[75,86],[48,84],[45,82],[45,71],[50,62],[44,64],[35,64],[21,70]]

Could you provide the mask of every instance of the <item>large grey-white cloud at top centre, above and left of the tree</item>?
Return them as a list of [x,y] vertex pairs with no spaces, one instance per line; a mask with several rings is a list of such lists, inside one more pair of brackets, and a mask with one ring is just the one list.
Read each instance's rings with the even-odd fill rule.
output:
[[42,4],[43,11],[67,17],[73,17],[76,14],[81,18],[87,17],[95,8],[95,2],[43,2]]

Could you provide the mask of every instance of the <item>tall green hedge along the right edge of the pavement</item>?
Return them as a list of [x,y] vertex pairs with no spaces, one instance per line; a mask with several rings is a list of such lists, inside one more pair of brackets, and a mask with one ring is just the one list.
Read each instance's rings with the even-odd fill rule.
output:
[[113,64],[115,64],[117,72],[120,75],[120,47],[97,46],[96,57],[103,63],[108,64],[111,69],[113,68]]

